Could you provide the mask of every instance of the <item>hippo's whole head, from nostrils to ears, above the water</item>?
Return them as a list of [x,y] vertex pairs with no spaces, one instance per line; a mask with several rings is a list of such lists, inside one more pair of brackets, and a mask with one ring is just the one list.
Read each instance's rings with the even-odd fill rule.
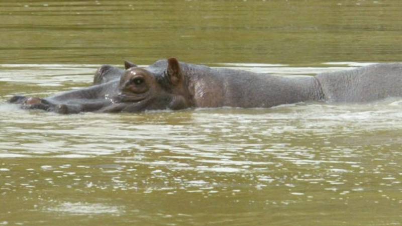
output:
[[105,65],[96,71],[90,87],[46,98],[14,96],[9,101],[62,114],[176,110],[193,105],[188,78],[175,58],[145,68],[126,62],[125,70]]

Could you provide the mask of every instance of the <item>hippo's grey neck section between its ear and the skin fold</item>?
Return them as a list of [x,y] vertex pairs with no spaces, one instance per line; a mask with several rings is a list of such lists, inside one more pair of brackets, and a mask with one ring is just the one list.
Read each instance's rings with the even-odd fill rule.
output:
[[191,64],[182,68],[195,107],[271,107],[324,98],[313,76],[290,78]]

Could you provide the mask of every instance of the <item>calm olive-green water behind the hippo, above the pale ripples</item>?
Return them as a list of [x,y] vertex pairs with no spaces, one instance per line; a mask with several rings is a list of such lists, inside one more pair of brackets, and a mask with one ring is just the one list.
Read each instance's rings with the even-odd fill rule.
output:
[[399,0],[14,1],[0,63],[400,61]]

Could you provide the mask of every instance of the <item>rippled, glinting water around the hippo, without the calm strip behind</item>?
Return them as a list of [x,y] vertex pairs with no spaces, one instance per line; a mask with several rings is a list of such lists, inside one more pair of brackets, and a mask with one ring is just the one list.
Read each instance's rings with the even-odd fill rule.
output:
[[[94,71],[51,67],[3,66],[1,100],[86,86]],[[282,76],[337,69],[247,68]],[[12,81],[15,71],[27,82]],[[401,119],[400,98],[67,116],[2,103],[0,194],[9,205],[0,216],[59,225],[395,223]]]

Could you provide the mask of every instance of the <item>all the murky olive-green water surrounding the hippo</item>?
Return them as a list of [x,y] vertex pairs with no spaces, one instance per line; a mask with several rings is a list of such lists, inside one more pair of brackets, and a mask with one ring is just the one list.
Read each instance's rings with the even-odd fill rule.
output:
[[[99,64],[402,61],[400,1],[0,2],[0,225],[400,225],[402,99],[56,115]],[[250,64],[260,63],[260,64]],[[96,65],[95,65],[96,64]]]

